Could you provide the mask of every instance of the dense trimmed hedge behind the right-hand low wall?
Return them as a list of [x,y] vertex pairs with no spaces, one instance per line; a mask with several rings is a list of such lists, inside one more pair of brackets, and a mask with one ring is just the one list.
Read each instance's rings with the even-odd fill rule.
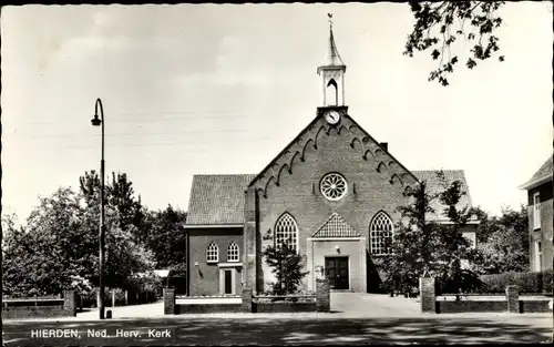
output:
[[506,286],[515,285],[520,293],[552,293],[552,271],[542,273],[503,273],[482,275],[478,293],[505,293]]

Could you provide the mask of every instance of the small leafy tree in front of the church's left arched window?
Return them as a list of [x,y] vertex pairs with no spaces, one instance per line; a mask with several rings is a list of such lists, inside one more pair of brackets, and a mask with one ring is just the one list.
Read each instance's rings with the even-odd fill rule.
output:
[[289,243],[267,246],[264,251],[267,265],[273,268],[276,277],[275,283],[270,283],[273,295],[287,295],[298,292],[300,283],[308,274],[302,268],[302,257],[296,253]]

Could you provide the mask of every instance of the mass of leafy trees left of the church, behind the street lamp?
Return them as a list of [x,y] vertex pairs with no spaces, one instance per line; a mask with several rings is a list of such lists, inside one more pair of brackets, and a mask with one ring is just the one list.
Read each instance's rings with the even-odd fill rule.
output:
[[[62,187],[41,197],[24,227],[2,216],[3,294],[86,294],[98,285],[101,182],[94,171],[79,182],[76,192]],[[148,212],[127,176],[112,173],[105,186],[105,285],[124,288],[137,274],[183,265],[185,216],[171,206]]]

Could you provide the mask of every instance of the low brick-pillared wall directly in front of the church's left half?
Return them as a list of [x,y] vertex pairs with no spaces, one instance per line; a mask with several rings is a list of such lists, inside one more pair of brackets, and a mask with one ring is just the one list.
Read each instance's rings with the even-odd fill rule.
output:
[[240,296],[176,296],[174,288],[164,288],[164,314],[208,313],[299,313],[329,312],[329,285],[317,283],[314,295],[254,295],[245,288]]

